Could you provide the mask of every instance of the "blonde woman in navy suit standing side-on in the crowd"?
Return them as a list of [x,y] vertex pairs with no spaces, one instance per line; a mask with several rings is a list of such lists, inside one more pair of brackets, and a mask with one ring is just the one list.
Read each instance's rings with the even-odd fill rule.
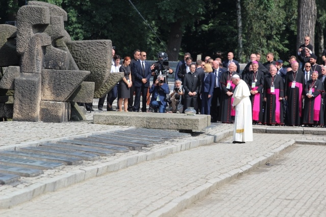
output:
[[210,114],[210,104],[212,101],[213,89],[215,84],[215,76],[212,73],[213,69],[210,64],[204,65],[204,72],[202,78],[202,90],[201,90],[201,99],[202,99],[202,109],[201,114]]

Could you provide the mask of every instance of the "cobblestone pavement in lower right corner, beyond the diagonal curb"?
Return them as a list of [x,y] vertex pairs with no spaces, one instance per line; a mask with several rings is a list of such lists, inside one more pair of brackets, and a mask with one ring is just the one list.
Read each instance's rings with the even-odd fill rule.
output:
[[293,145],[177,216],[326,216],[326,147]]

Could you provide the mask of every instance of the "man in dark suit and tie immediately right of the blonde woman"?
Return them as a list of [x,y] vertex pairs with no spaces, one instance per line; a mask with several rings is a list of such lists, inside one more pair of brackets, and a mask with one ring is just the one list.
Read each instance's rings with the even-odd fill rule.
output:
[[220,83],[221,76],[225,72],[224,69],[220,68],[220,63],[218,60],[213,61],[213,72],[215,75],[215,84],[212,96],[212,103],[210,107],[210,116],[211,122],[216,122],[219,119],[219,109],[220,109],[220,101],[221,101],[221,90],[222,86]]

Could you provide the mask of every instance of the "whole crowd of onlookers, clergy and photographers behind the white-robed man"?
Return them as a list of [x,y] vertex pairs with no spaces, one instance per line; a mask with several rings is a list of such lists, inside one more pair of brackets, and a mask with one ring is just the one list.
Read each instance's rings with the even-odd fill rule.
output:
[[[322,55],[323,61],[326,60],[326,50]],[[112,103],[118,96],[119,111],[123,104],[124,111],[147,112],[149,91],[152,94],[150,111],[166,112],[166,102],[170,101],[172,112],[194,107],[197,114],[210,114],[211,122],[233,123],[232,95],[236,86],[232,76],[238,75],[250,89],[253,124],[323,127],[326,67],[316,64],[317,56],[308,36],[298,48],[297,57],[289,58],[288,68],[283,67],[282,60],[275,61],[273,53],[266,54],[264,64],[260,63],[260,53],[252,53],[250,62],[240,72],[239,63],[233,57],[229,52],[224,61],[206,56],[204,61],[194,62],[191,54],[185,53],[176,68],[175,88],[170,91],[165,77],[155,73],[158,62],[150,66],[146,52],[135,50],[133,58],[125,57],[122,65],[120,56],[114,55],[111,72],[124,72],[125,76],[109,92],[107,110],[114,110]],[[166,69],[169,74],[173,73],[170,67]],[[154,76],[152,85],[151,76]],[[175,96],[180,98],[176,100]],[[102,102],[104,98],[100,99],[100,110]],[[183,106],[181,110],[178,104]]]

